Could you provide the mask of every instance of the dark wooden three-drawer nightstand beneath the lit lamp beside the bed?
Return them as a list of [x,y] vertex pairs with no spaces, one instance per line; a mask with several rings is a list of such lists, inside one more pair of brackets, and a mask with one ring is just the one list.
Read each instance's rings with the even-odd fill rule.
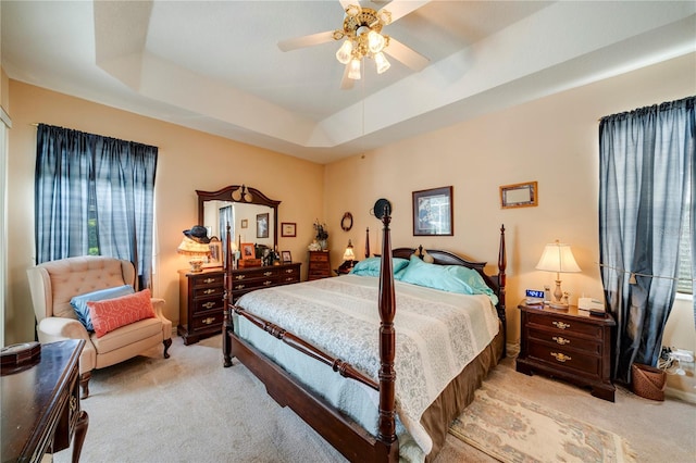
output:
[[611,384],[611,314],[589,315],[571,305],[567,311],[544,305],[518,305],[521,313],[517,371],[544,373],[580,386],[613,402]]

